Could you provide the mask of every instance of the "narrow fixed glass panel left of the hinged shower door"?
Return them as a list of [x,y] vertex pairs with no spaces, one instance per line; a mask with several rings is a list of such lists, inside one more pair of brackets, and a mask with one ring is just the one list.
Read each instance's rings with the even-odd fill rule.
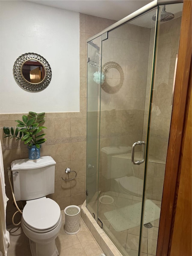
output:
[[[87,174],[86,206],[91,214],[98,216],[98,159],[99,159],[99,110],[101,37],[87,44]],[[94,76],[95,74],[95,76]]]

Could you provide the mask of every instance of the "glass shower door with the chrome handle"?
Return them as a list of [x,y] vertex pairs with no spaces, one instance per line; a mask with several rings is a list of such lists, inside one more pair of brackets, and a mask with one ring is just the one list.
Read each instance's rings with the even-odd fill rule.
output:
[[[156,9],[102,41],[98,218],[123,255],[138,255],[145,162],[131,162],[147,141]],[[135,146],[134,161],[144,157]]]

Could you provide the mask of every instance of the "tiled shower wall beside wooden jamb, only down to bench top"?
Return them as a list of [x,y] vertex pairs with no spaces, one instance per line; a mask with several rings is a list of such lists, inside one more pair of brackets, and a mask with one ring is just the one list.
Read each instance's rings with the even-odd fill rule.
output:
[[[166,161],[167,156],[167,143],[172,111],[171,98],[173,77],[176,53],[178,53],[179,47],[180,23],[181,17],[178,17],[161,24],[157,46],[157,66],[152,105],[151,147],[149,153],[163,161]],[[151,29],[151,41],[154,38],[154,33],[153,28]],[[149,63],[151,62],[152,56],[149,55]],[[148,72],[150,72],[150,70]],[[151,74],[149,75],[148,77],[150,78]],[[147,84],[150,82],[151,79],[148,79]],[[149,86],[147,86],[147,88],[149,88]],[[146,92],[146,97],[149,97],[149,91]],[[144,120],[146,122],[148,118],[148,106],[145,108],[145,114]],[[144,125],[143,128],[145,127]]]

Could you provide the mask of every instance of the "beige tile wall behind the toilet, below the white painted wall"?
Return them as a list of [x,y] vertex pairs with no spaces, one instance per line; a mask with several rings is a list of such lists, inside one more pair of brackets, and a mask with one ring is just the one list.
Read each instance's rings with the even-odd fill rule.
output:
[[[85,102],[85,98],[82,98]],[[77,117],[79,116],[79,117]],[[0,126],[15,126],[14,120],[22,120],[22,114],[1,114]],[[50,197],[55,200],[61,209],[70,204],[79,205],[84,201],[85,192],[85,164],[86,164],[86,118],[85,104],[79,113],[46,113],[45,130],[47,141],[42,144],[41,156],[50,155],[56,161],[55,166],[55,193]],[[15,212],[12,205],[12,196],[7,176],[7,166],[15,159],[28,158],[28,149],[23,143],[16,143],[15,139],[4,138],[0,129],[0,139],[3,150],[6,194],[10,199],[7,202],[7,224]],[[65,169],[70,167],[76,170],[77,177],[72,181],[63,181],[72,177]],[[19,215],[19,214],[18,214]],[[18,216],[19,218],[20,216]]]

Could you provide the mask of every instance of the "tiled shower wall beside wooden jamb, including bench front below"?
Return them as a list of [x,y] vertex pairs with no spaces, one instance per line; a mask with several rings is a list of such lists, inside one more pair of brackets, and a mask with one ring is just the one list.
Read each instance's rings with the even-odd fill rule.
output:
[[[181,17],[160,24],[158,45],[157,45],[157,66],[155,71],[155,83],[152,104],[152,122],[149,138],[149,154],[154,160],[148,163],[147,171],[147,198],[161,201],[165,162],[167,157],[167,146],[171,122],[171,98],[173,89],[173,77],[176,62],[176,53],[179,47]],[[155,30],[151,29],[149,51],[153,48]],[[149,65],[152,62],[152,55],[149,55]],[[150,88],[151,70],[148,69],[147,89]],[[149,90],[146,91],[146,98],[149,97]],[[148,122],[149,106],[145,106],[144,132]]]

